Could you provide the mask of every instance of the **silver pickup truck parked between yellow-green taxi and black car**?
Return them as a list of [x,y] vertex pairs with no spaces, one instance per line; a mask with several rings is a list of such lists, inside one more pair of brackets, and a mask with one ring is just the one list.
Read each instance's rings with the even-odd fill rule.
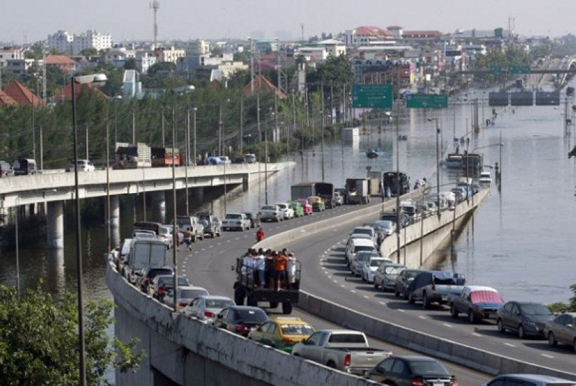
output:
[[294,345],[292,355],[364,376],[391,351],[372,349],[364,333],[354,330],[319,330]]

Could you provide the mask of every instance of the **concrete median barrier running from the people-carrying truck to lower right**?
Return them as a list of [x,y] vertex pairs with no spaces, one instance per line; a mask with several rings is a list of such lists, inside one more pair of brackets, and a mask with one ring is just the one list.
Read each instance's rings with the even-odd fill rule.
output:
[[538,364],[526,363],[496,353],[489,353],[448,339],[433,337],[418,330],[412,330],[371,317],[306,292],[300,292],[298,308],[346,328],[361,330],[366,335],[427,355],[433,355],[437,358],[443,358],[487,374],[546,374],[576,380],[575,373],[557,371]]

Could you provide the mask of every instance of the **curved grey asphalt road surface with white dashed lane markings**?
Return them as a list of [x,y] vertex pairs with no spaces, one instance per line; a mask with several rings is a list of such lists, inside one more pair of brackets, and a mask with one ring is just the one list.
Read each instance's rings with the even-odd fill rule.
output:
[[[375,201],[371,205],[380,205],[380,202],[375,203]],[[363,283],[359,278],[352,278],[344,263],[344,243],[348,233],[353,226],[371,221],[377,216],[355,217],[353,212],[357,208],[359,207],[345,205],[325,212],[315,212],[312,216],[300,219],[264,224],[266,235],[273,235],[297,226],[305,226],[311,221],[350,214],[345,217],[345,220],[334,221],[325,230],[312,235],[307,235],[304,228],[302,237],[297,243],[286,245],[287,248],[296,251],[298,259],[303,264],[303,290],[423,333],[518,358],[525,362],[537,363],[562,371],[573,371],[574,354],[568,347],[551,348],[544,340],[520,340],[514,335],[501,335],[491,322],[471,325],[464,317],[452,319],[448,309],[444,307],[422,310],[418,304],[411,305],[403,299],[395,298],[393,294],[374,290],[372,285]],[[217,237],[215,240],[205,239],[197,242],[192,252],[179,251],[180,272],[185,274],[194,285],[206,287],[212,294],[233,298],[232,284],[235,275],[231,269],[232,265],[235,264],[237,255],[243,253],[254,242],[255,231],[224,232],[222,237]],[[280,309],[271,312],[280,312]],[[328,326],[327,321],[308,314],[304,317],[316,328]],[[396,354],[408,352],[405,349],[391,346],[387,342],[375,341],[375,346],[392,349]],[[448,364],[448,367],[455,372],[463,385],[480,385],[490,378],[454,364]]]

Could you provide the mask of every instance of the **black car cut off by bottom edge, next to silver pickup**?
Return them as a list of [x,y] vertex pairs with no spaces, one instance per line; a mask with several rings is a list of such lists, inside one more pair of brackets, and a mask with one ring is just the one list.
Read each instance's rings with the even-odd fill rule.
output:
[[412,386],[457,385],[456,377],[434,358],[418,356],[394,356],[382,360],[371,369],[366,378],[385,385]]

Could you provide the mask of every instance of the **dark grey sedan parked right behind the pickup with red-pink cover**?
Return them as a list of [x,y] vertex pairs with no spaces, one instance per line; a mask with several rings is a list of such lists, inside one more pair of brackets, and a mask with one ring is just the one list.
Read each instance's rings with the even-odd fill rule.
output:
[[552,311],[541,303],[508,301],[497,312],[496,326],[500,333],[516,331],[520,339],[526,335],[544,337],[544,324],[552,319]]

